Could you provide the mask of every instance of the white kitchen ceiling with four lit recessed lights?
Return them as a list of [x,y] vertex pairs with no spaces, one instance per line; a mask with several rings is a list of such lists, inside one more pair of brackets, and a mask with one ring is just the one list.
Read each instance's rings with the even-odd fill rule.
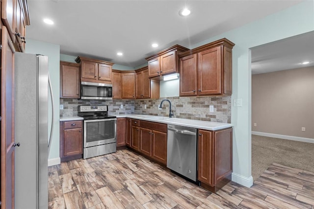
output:
[[[175,44],[191,46],[300,0],[28,0],[26,37],[60,53],[137,67]],[[179,16],[184,6],[191,10]],[[54,25],[46,25],[50,18]],[[232,40],[231,40],[232,41]],[[158,43],[152,48],[152,43]],[[235,43],[236,44],[236,43]],[[27,46],[26,46],[27,47]],[[123,52],[123,56],[116,55]]]

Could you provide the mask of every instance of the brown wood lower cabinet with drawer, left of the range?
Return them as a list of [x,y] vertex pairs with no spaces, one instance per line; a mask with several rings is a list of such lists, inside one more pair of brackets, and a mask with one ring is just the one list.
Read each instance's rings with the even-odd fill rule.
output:
[[82,121],[60,122],[61,162],[78,159],[83,154]]

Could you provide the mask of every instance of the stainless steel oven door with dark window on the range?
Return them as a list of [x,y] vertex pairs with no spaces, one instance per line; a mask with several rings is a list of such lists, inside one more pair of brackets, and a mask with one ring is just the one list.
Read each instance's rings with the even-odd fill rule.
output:
[[114,143],[117,119],[84,120],[84,148]]

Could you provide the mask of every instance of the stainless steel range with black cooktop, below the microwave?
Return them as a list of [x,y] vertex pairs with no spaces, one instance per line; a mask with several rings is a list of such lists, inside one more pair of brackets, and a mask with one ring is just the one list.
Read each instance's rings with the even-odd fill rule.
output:
[[84,118],[84,159],[116,152],[117,118],[108,115],[107,105],[80,105],[78,116]]

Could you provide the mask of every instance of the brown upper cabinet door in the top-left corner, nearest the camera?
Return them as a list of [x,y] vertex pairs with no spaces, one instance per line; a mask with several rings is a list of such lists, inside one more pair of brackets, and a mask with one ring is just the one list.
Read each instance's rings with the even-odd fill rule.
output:
[[1,0],[1,19],[6,26],[12,43],[15,43],[15,6],[17,0]]

